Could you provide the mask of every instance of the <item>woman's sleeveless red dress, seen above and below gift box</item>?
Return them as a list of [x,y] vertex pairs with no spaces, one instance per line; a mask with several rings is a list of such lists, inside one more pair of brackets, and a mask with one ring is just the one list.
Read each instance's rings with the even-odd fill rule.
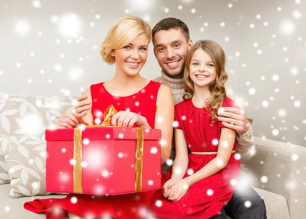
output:
[[[119,97],[111,95],[103,83],[92,85],[90,91],[93,118],[95,120],[99,116],[103,121],[104,111],[113,104],[118,112],[127,110],[140,114],[146,118],[150,127],[154,128],[160,86],[160,83],[149,81],[147,86],[134,95]],[[68,218],[67,211],[88,218],[109,215],[116,219],[137,219],[146,218],[147,206],[154,194],[155,190],[117,196],[69,194],[63,199],[36,199],[24,203],[24,208],[35,213],[45,212],[47,219]],[[73,197],[77,198],[76,203],[71,202]]]

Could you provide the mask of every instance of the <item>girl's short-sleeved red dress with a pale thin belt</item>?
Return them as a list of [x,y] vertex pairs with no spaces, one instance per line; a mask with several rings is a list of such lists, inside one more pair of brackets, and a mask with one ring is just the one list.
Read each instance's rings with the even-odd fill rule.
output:
[[[230,98],[225,98],[222,106],[235,106]],[[192,100],[186,100],[175,105],[175,121],[177,129],[182,129],[186,143],[193,152],[216,152],[221,135],[221,122],[212,123],[206,108],[197,108]],[[217,142],[216,142],[217,141]],[[217,144],[216,144],[217,143]],[[236,149],[236,143],[233,150]],[[189,153],[189,173],[197,172],[216,157],[212,155],[198,155]],[[185,196],[176,202],[164,198],[161,189],[156,191],[155,197],[149,204],[148,211],[155,218],[171,219],[205,219],[218,214],[222,207],[231,200],[233,191],[238,184],[240,161],[232,153],[226,167],[220,172],[202,179],[192,185]],[[171,178],[169,171],[162,184]],[[189,175],[186,173],[184,178]]]

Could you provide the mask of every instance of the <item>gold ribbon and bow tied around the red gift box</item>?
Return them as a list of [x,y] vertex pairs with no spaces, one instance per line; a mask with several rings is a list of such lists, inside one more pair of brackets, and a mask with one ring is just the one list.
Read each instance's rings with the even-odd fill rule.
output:
[[[118,111],[113,105],[107,107],[104,113],[104,121],[100,125],[91,125],[86,123],[82,118],[75,117],[80,124],[86,127],[107,127],[112,126],[112,116]],[[136,128],[136,153],[135,153],[135,191],[138,193],[142,187],[142,168],[143,168],[143,129]],[[73,133],[73,193],[82,194],[82,131],[79,128],[74,129]]]

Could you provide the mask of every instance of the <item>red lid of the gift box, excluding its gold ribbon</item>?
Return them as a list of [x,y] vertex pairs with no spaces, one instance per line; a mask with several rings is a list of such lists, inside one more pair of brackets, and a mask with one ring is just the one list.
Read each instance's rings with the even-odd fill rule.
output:
[[[74,129],[46,129],[46,141],[73,141]],[[136,140],[136,128],[87,127],[82,131],[82,139],[88,140]],[[161,140],[160,129],[143,129],[143,140]]]

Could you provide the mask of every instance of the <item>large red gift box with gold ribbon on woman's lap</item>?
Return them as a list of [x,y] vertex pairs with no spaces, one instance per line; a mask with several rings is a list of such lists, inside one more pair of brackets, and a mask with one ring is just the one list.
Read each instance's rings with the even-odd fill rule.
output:
[[46,190],[118,195],[161,188],[161,130],[46,130]]

